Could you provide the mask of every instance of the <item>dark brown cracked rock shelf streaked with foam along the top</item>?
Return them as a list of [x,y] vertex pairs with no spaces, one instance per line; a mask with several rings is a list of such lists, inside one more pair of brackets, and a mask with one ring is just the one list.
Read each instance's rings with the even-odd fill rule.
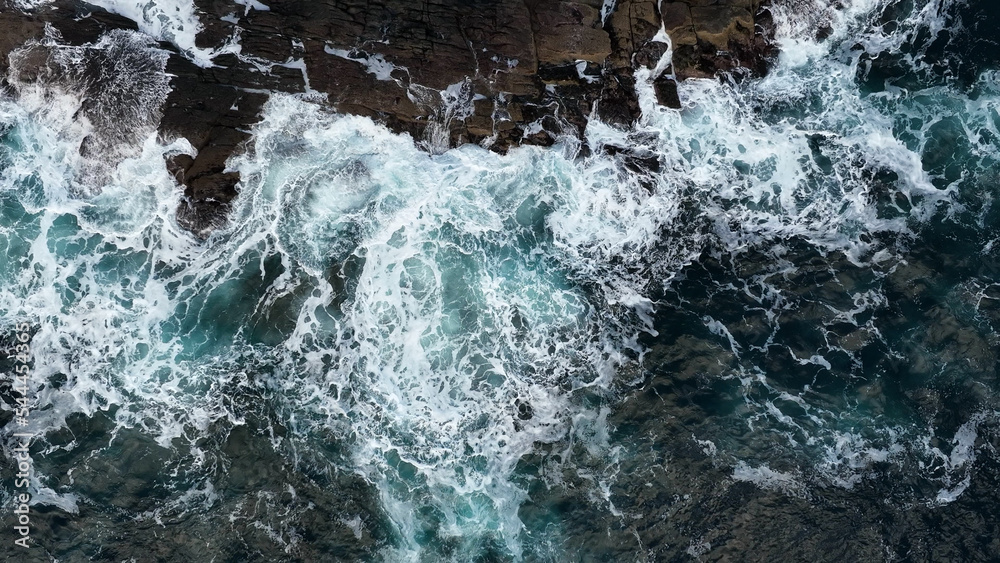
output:
[[[224,222],[239,182],[226,161],[252,141],[272,92],[312,95],[335,111],[371,117],[430,151],[478,143],[504,152],[580,136],[594,116],[630,126],[639,116],[639,68],[653,71],[660,103],[676,106],[675,77],[762,73],[773,51],[762,0],[196,0],[195,7],[194,45],[176,34],[155,37],[170,78],[156,127],[194,149],[168,166],[185,190],[178,219],[199,236]],[[3,85],[16,90],[16,54],[22,67],[37,67],[21,68],[19,83],[73,74],[100,89],[101,70],[114,69],[84,64],[71,72],[45,50],[95,45],[112,30],[148,32],[149,23],[86,2],[32,8],[0,0]],[[667,36],[672,68],[657,66]],[[25,45],[40,52],[26,57]]]

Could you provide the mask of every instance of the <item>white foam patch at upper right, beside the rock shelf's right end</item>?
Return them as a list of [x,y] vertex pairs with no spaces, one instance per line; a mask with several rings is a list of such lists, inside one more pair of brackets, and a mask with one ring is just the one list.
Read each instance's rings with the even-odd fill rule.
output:
[[[932,122],[964,119],[965,113],[932,117],[904,92],[864,95],[855,80],[858,52],[841,50],[841,44],[854,41],[884,2],[858,0],[843,9],[823,0],[812,4],[808,13],[830,22],[831,38],[816,40],[818,22],[803,23],[800,11],[793,17],[783,11],[786,4],[777,5],[783,58],[767,77],[749,85],[685,81],[679,86],[684,107],[677,111],[655,103],[648,81],[655,73],[641,69],[643,124],[659,136],[655,148],[666,168],[685,171],[687,182],[673,189],[696,190],[704,216],[715,219],[715,233],[728,251],[800,236],[867,260],[871,247],[856,236],[859,230],[906,232],[907,221],[928,218],[950,194],[935,187],[934,176],[923,169],[926,137],[918,133],[915,145],[898,133],[900,114]],[[943,15],[918,12],[903,29],[940,27],[934,18]],[[891,40],[905,36],[900,32]],[[895,48],[879,32],[860,37],[870,40],[872,53]],[[785,107],[783,119],[762,116]],[[870,177],[883,171],[899,178],[891,189],[912,211],[892,213],[876,204]]]

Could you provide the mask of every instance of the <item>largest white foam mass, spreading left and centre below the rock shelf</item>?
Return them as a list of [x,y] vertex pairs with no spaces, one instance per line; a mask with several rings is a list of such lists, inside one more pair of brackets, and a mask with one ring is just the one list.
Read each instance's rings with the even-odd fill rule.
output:
[[[417,509],[428,506],[443,515],[443,536],[496,536],[518,553],[525,493],[511,475],[521,457],[574,432],[606,443],[607,414],[583,424],[575,397],[607,389],[638,357],[650,307],[609,261],[641,255],[655,244],[642,233],[670,217],[637,183],[606,184],[608,163],[583,170],[538,148],[432,157],[367,119],[277,97],[254,152],[231,163],[245,179],[232,227],[202,248],[177,228],[179,194],[162,164],[190,147],[150,138],[99,195],[79,195],[57,157],[72,140],[3,103],[25,142],[48,145],[4,168],[7,197],[37,214],[20,231],[33,233],[24,243],[36,266],[16,270],[0,308],[38,323],[37,381],[68,379],[36,389],[44,414],[33,430],[114,408],[121,428],[174,452],[175,468],[197,468],[200,437],[220,420],[241,424],[220,386],[264,384],[247,366],[270,365],[266,385],[294,405],[293,440],[351,425],[357,469],[414,553],[428,525]],[[43,191],[21,193],[34,175]],[[338,294],[331,268],[345,261],[359,269]],[[593,276],[604,284],[596,293],[581,285]],[[237,279],[264,285],[234,293]],[[289,298],[297,321],[273,349],[209,321],[251,299],[242,322],[252,324],[286,314]]]

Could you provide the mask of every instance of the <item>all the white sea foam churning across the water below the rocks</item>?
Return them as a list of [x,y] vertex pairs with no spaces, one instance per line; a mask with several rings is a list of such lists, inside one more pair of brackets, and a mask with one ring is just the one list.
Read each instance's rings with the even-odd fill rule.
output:
[[[194,47],[193,8],[112,4],[210,61]],[[850,6],[834,14],[834,38],[870,9]],[[810,64],[786,58],[743,86],[690,81],[679,89],[680,111],[657,107],[640,81],[639,133],[651,135],[592,123],[595,147],[648,149],[661,159],[663,172],[645,184],[599,152],[575,160],[571,143],[505,156],[477,147],[430,155],[367,119],[276,96],[254,150],[230,162],[243,178],[231,226],[203,245],[178,229],[179,192],[163,165],[164,154],[190,146],[149,136],[100,190],[81,192],[73,155],[88,124],[66,125],[79,100],[0,101],[0,122],[13,124],[20,145],[0,154],[0,197],[14,210],[0,239],[31,264],[0,266],[0,312],[37,325],[31,430],[63,427],[73,413],[113,412],[115,432],[150,437],[168,455],[168,472],[196,471],[211,463],[200,440],[217,423],[244,423],[227,386],[266,389],[289,429],[294,445],[282,451],[293,463],[321,457],[310,446],[330,433],[351,436],[350,469],[373,483],[403,538],[392,558],[433,557],[421,555],[428,531],[461,538],[463,547],[498,539],[516,556],[526,499],[513,478],[518,462],[539,443],[574,440],[612,456],[606,408],[581,397],[606,395],[619,369],[642,356],[636,335],[651,331],[651,283],[668,287],[703,252],[763,249],[774,259],[768,275],[790,274],[783,243],[796,237],[856,263],[884,261],[885,249],[858,233],[905,235],[948,200],[920,165],[923,137],[894,132],[894,116],[929,106],[907,105],[912,98],[892,91],[860,95],[851,56],[795,37]],[[388,77],[384,61],[359,62]],[[287,64],[305,76],[297,61]],[[432,94],[450,117],[473,100],[463,83]],[[992,99],[962,99],[956,118],[995,127]],[[786,102],[788,117],[762,117]],[[806,107],[806,117],[796,115]],[[875,169],[897,175],[889,189],[910,210],[875,203],[864,176]],[[685,215],[691,209],[703,222]],[[793,297],[769,283],[760,276],[739,289],[774,321]],[[859,292],[851,302],[831,317],[863,325],[884,299]],[[275,328],[269,343],[251,337],[282,318],[293,322]],[[721,320],[704,321],[741,359],[754,351]],[[823,355],[789,352],[831,367]],[[777,435],[800,467],[736,460],[734,479],[806,497],[813,483],[849,488],[880,465],[931,460],[944,468],[926,477],[936,502],[968,485],[981,421],[961,427],[947,453],[935,451],[906,429],[852,428],[848,415],[810,403],[808,386],[789,389],[773,375],[734,377],[750,431]],[[60,376],[61,387],[43,386]],[[713,458],[730,459],[725,440],[694,439]],[[613,510],[605,477],[585,478]],[[208,477],[193,482],[175,506],[217,502]],[[43,477],[36,490],[46,486]],[[70,506],[73,494],[64,486],[43,498]],[[361,533],[359,521],[344,523]]]

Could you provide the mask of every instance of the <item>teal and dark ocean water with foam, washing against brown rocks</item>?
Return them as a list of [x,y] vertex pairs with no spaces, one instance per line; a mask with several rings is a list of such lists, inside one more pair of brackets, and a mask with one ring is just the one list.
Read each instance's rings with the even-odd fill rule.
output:
[[190,3],[99,4],[140,22],[93,46],[125,95],[0,98],[5,522],[34,435],[35,547],[5,556],[1000,553],[986,0],[775,2],[771,73],[680,110],[641,71],[641,122],[587,140],[657,170],[568,138],[431,154],[275,95],[206,241],[175,221],[163,157],[191,147],[155,134],[147,36],[215,51]]

